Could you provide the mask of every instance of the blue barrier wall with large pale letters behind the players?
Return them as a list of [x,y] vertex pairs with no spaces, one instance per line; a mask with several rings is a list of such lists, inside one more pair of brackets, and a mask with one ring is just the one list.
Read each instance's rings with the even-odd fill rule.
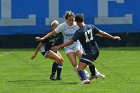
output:
[[140,32],[139,0],[0,0],[0,35],[44,34],[66,10],[109,33]]

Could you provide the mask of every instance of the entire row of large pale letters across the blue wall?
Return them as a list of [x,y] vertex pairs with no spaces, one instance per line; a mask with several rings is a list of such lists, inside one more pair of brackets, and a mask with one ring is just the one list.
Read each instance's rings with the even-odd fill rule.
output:
[[[109,17],[108,3],[116,1],[124,3],[124,0],[98,0],[98,17],[95,17],[95,24],[132,24],[132,14],[125,14],[124,17]],[[50,25],[50,21],[57,19],[63,22],[63,18],[59,18],[59,0],[48,0],[49,2],[49,18],[45,19],[45,25]],[[1,0],[1,19],[0,26],[30,26],[36,25],[36,15],[29,15],[28,18],[12,18],[11,0]]]

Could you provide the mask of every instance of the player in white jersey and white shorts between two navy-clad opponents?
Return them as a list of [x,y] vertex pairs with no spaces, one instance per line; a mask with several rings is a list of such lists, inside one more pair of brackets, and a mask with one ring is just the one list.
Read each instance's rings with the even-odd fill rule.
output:
[[[72,36],[74,35],[75,31],[79,29],[75,22],[75,14],[72,11],[66,11],[64,17],[66,20],[65,22],[61,23],[59,26],[57,26],[57,28],[55,30],[51,31],[46,36],[44,36],[42,38],[36,37],[36,40],[42,41],[59,32],[62,32],[63,37],[64,37],[64,42],[71,39]],[[80,59],[80,57],[82,55],[82,49],[81,49],[80,42],[79,41],[74,42],[73,44],[66,46],[64,49],[67,54],[67,57],[69,58],[72,66],[74,67],[74,70],[77,72],[76,56]],[[93,69],[93,66],[90,65],[89,69]],[[96,71],[97,77],[105,78],[105,75],[100,74],[97,69],[95,69],[95,71]]]

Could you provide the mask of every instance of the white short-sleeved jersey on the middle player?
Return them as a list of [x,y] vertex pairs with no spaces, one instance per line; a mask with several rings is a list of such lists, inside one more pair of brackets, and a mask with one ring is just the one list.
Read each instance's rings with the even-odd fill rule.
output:
[[[76,30],[78,30],[78,26],[76,25],[76,22],[72,26],[69,26],[66,22],[61,23],[57,28],[55,29],[55,32],[59,33],[62,32],[64,37],[64,42],[68,41],[72,38]],[[79,41],[77,41],[79,42]],[[79,43],[74,42],[73,44],[67,46],[67,48],[74,48],[79,46]]]

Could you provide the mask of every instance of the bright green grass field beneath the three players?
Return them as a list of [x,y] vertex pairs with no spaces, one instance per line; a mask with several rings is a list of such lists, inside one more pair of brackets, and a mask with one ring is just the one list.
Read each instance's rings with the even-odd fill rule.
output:
[[49,80],[52,60],[34,49],[0,49],[0,93],[140,93],[140,48],[101,48],[97,69],[106,79],[80,84],[66,54],[62,81]]

